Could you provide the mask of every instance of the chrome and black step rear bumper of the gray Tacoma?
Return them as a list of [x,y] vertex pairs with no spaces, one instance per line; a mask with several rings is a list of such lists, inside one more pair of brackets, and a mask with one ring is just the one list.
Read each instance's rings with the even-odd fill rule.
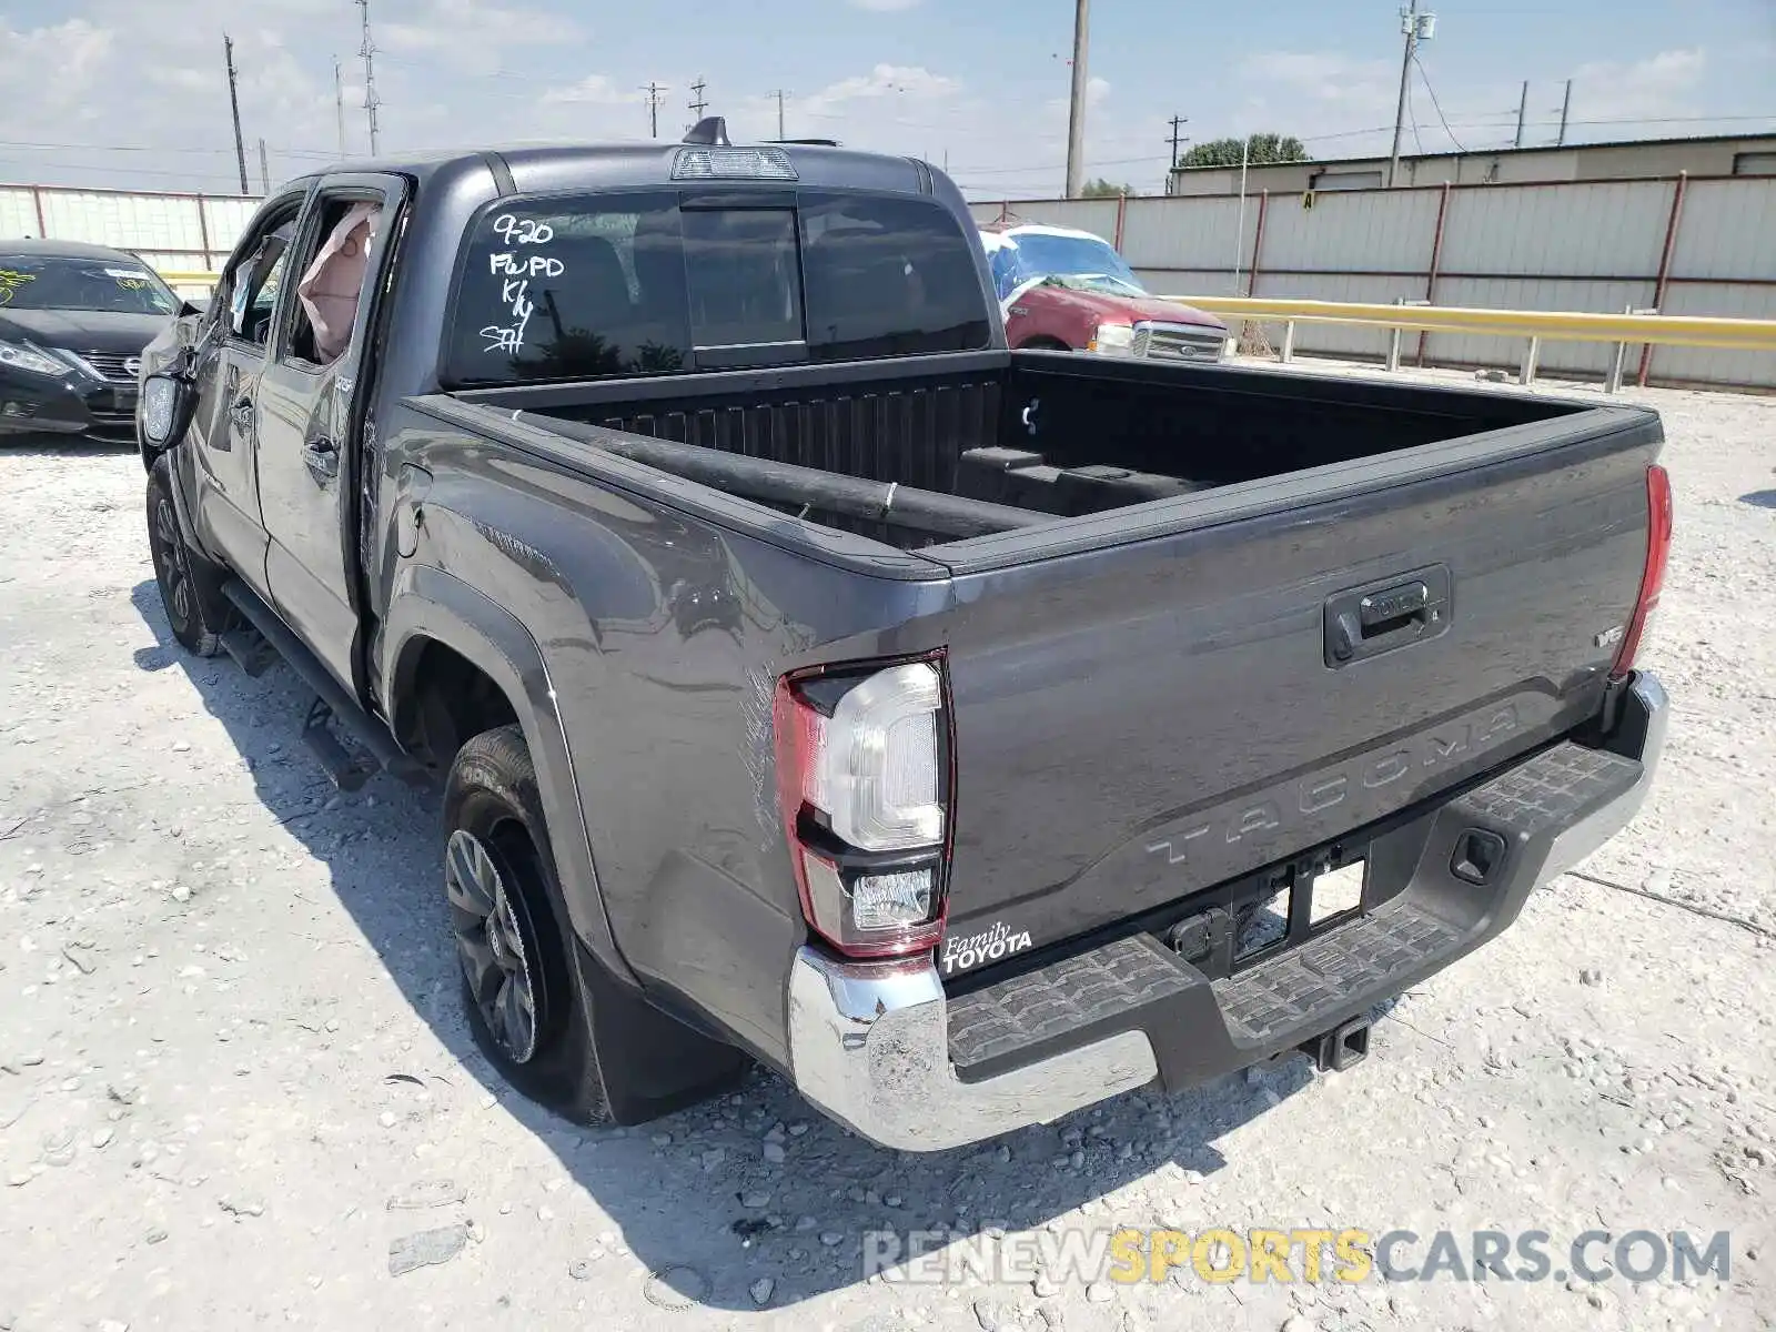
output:
[[[1378,840],[1380,906],[1222,980],[1147,934],[948,1000],[931,959],[803,948],[789,984],[797,1089],[863,1137],[938,1151],[1058,1119],[1153,1082],[1202,1082],[1284,1053],[1504,931],[1529,893],[1621,831],[1646,799],[1669,703],[1637,675],[1604,748],[1558,744]],[[1453,872],[1472,831],[1506,851]]]

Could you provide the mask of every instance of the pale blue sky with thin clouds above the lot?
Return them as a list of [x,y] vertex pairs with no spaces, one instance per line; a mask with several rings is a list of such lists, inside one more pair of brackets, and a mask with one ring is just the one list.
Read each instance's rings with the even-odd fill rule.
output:
[[[1776,128],[1776,0],[1447,0],[1414,76],[1407,149]],[[1169,117],[1192,140],[1275,130],[1314,156],[1385,151],[1396,0],[1096,0],[1087,169],[1158,190]],[[0,0],[0,179],[195,190],[234,185],[220,34],[274,178],[366,146],[352,0]],[[1071,0],[371,0],[382,147],[643,139],[646,92],[678,133],[696,78],[735,137],[785,128],[948,162],[975,197],[1058,192]],[[1447,117],[1446,131],[1442,117]]]

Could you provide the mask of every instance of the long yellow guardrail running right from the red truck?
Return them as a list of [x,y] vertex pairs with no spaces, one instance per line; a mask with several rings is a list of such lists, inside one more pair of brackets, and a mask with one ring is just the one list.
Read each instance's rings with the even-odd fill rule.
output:
[[1380,305],[1357,300],[1280,300],[1272,297],[1162,297],[1162,300],[1181,300],[1213,314],[1272,323],[1369,323],[1384,329],[1547,337],[1572,343],[1728,346],[1740,352],[1776,352],[1776,320],[1478,309],[1471,305]]

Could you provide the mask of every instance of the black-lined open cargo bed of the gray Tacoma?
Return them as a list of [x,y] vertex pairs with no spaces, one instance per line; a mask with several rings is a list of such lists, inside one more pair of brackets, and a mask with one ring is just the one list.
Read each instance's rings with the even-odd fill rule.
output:
[[[932,361],[940,364],[925,364]],[[607,448],[623,446],[606,432],[623,432],[758,460],[757,467],[730,464],[712,471],[712,464],[684,449],[632,444],[627,455],[694,480],[716,480],[730,494],[902,549],[959,533],[1028,526],[1041,517],[1103,513],[1286,476],[1581,410],[1497,392],[1053,352],[733,371],[673,380],[671,387],[671,396],[661,396],[659,380],[458,396],[549,417],[559,423],[552,428]],[[764,464],[904,487],[982,508],[966,533],[955,526],[922,527],[916,511],[860,520],[856,506],[833,510],[822,503],[828,487],[819,478]],[[908,503],[900,496],[902,508]],[[1034,517],[1019,520],[986,506]]]

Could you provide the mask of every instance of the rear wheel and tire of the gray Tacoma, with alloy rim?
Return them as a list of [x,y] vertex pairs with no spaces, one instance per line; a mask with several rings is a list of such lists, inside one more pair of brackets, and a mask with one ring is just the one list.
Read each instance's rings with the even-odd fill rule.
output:
[[611,1119],[519,726],[481,732],[444,783],[444,893],[469,1028],[501,1076],[581,1124]]

